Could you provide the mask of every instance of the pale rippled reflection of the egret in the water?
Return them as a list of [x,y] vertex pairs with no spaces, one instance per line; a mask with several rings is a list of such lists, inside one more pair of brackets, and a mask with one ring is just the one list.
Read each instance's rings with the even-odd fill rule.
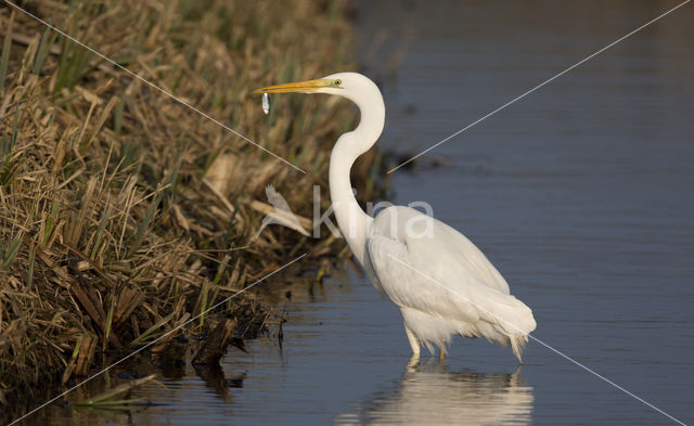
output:
[[446,364],[408,364],[402,379],[362,400],[336,424],[528,425],[532,388],[520,367],[507,373],[452,373]]

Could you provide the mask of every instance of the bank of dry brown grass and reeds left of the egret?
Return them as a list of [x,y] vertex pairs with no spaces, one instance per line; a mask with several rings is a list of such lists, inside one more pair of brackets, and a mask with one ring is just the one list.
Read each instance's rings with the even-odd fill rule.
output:
[[[327,202],[329,152],[354,111],[286,95],[265,117],[249,93],[354,69],[346,4],[15,3],[307,173],[0,5],[0,400],[83,375],[303,253],[344,248],[280,227],[249,242],[267,184],[306,217],[314,183]],[[375,163],[357,167],[362,189]],[[261,311],[253,294],[224,308]]]

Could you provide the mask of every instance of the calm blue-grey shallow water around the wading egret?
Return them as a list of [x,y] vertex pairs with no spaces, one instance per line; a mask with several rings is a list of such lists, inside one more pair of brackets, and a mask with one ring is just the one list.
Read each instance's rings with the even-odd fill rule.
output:
[[[382,143],[400,152],[428,147],[677,2],[436,4],[369,2],[359,13],[369,72],[385,81]],[[391,182],[398,203],[429,202],[488,255],[532,308],[537,338],[684,423],[694,422],[693,18],[687,4],[430,153],[449,166]],[[394,79],[383,64],[403,35]],[[461,338],[445,365],[408,367],[390,302],[351,269],[323,291],[287,302],[282,350],[265,338],[248,354],[231,349],[223,378],[187,365],[164,372],[166,389],[132,395],[159,405],[52,406],[35,418],[674,424],[535,341],[522,369],[509,349]]]

